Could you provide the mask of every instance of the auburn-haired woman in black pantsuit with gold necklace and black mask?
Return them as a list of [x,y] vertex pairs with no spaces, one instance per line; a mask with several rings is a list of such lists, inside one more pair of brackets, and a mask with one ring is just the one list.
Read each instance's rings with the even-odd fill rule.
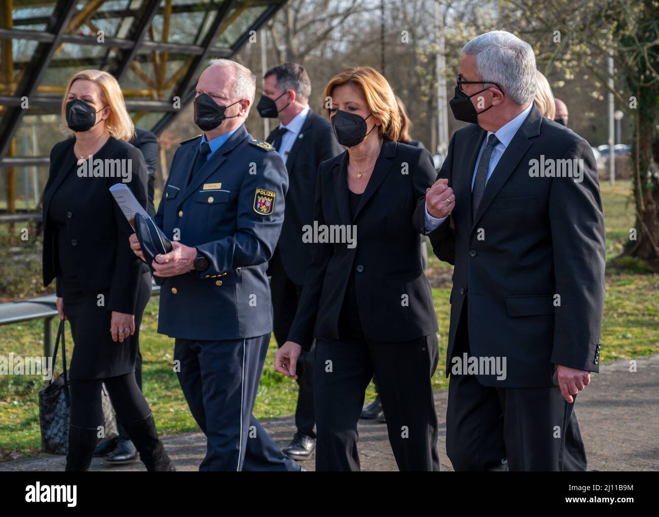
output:
[[399,469],[439,470],[438,326],[412,225],[436,177],[432,159],[397,142],[396,99],[373,68],[343,70],[324,98],[348,149],[318,169],[314,229],[304,235],[311,259],[275,371],[297,378],[298,343],[316,339],[316,470],[359,470],[357,421],[373,373]]

